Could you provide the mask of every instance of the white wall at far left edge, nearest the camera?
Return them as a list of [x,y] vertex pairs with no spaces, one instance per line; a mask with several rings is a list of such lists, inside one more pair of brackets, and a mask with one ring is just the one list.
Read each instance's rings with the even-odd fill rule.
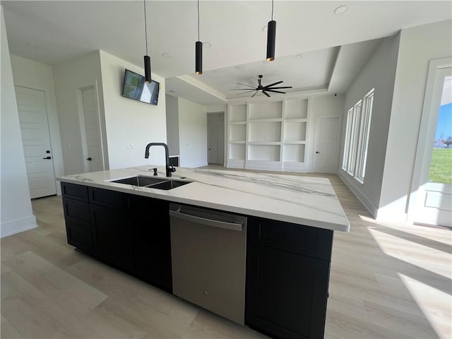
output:
[[37,225],[28,191],[3,6],[0,6],[0,17],[0,237],[6,237]]

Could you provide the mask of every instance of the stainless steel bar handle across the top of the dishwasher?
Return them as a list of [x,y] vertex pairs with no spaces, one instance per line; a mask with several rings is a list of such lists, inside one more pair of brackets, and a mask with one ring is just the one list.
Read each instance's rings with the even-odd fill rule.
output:
[[[227,213],[215,213],[201,208],[186,208],[185,206],[174,206],[169,209],[169,215],[189,222],[207,225],[211,227],[224,228],[226,230],[242,231],[246,223],[246,218],[239,215],[229,215]],[[235,220],[220,220],[234,218]],[[232,217],[232,218],[231,218]]]

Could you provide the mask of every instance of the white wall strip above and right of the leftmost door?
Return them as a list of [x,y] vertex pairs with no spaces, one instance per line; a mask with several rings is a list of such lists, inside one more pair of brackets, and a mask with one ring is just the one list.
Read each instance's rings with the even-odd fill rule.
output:
[[[63,153],[61,152],[52,66],[15,55],[11,55],[11,66],[13,68],[14,85],[42,90],[45,93],[54,172],[56,177],[61,177],[64,175]],[[57,182],[55,184],[58,194],[61,194],[61,186]]]

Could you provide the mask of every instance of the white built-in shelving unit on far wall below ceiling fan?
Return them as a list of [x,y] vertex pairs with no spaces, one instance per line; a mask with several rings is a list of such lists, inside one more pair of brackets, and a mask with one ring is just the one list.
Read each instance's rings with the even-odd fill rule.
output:
[[228,105],[227,167],[306,169],[309,99]]

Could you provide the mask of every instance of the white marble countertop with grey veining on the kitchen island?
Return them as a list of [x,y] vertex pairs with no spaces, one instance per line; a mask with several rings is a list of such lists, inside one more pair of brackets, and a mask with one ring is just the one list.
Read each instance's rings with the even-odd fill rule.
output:
[[[326,178],[177,167],[172,179],[191,184],[168,191],[111,182],[136,175],[153,176],[152,165],[73,174],[61,182],[111,189],[175,203],[348,232],[350,222]],[[157,166],[165,179],[165,167]]]

